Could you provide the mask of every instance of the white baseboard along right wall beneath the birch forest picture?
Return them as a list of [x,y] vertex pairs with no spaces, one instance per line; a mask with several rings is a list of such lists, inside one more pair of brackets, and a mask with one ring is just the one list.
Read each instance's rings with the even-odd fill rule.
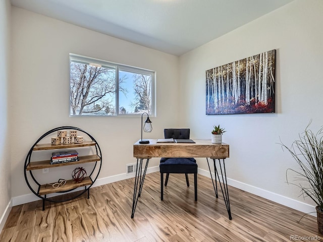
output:
[[[211,178],[210,176],[210,172],[208,170],[202,170],[200,168],[198,168],[198,173],[201,175],[204,175],[206,177]],[[212,172],[212,177],[214,178],[214,173]],[[220,176],[220,179],[222,179],[222,176]],[[276,194],[276,193],[272,193],[266,190],[263,190],[261,188],[257,188],[245,183],[241,183],[240,181],[234,180],[234,179],[230,179],[227,178],[227,183],[229,186],[232,186],[234,188],[238,188],[240,190],[243,190],[245,192],[257,195],[259,197],[271,200],[273,202],[279,203],[281,205],[287,206],[289,208],[293,208],[296,209],[298,211],[301,211],[303,213],[311,213],[312,216],[316,217],[316,210],[315,210],[315,206],[306,204],[306,203],[302,203],[300,201],[291,199],[291,198],[287,198],[285,196]],[[314,213],[313,213],[314,212]]]

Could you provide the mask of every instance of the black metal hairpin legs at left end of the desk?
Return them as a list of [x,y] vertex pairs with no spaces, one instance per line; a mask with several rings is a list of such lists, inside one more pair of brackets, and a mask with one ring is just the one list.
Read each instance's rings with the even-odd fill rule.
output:
[[131,212],[131,218],[133,218],[135,214],[135,210],[137,207],[138,198],[140,197],[143,183],[145,180],[145,175],[147,171],[147,166],[149,162],[149,158],[146,160],[146,165],[144,168],[144,171],[142,173],[142,162],[144,159],[138,159],[137,158],[137,166],[136,166],[136,177],[135,177],[135,186],[133,191],[133,200],[132,200],[132,212]]

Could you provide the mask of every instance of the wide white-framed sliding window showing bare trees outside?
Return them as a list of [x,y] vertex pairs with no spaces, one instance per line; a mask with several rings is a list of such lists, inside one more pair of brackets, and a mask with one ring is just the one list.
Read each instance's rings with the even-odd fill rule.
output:
[[155,72],[70,54],[70,115],[154,115]]

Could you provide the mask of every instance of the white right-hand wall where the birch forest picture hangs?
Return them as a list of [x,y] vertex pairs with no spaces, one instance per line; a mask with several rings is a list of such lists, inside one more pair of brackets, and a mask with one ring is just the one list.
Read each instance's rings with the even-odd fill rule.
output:
[[[278,202],[304,202],[286,184],[286,169],[297,166],[277,143],[281,138],[290,146],[310,119],[313,131],[323,125],[322,13],[323,1],[296,0],[180,57],[180,122],[192,138],[210,138],[213,125],[225,127],[232,185]],[[205,71],[271,49],[277,50],[276,113],[205,115]],[[202,160],[199,167],[207,170]],[[282,203],[293,206],[289,199]]]

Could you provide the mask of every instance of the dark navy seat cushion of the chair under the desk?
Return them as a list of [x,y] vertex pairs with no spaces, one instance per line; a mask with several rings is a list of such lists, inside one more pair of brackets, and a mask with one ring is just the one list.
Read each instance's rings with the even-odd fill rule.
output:
[[194,158],[161,158],[159,169],[161,173],[197,173]]

